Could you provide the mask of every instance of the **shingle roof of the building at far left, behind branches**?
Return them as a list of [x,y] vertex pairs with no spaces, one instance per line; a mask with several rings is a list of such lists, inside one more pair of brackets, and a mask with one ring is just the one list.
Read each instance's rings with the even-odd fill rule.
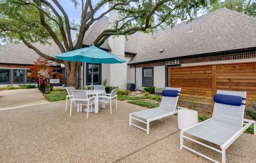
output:
[[[60,53],[55,43],[51,43],[51,45],[33,43],[33,45],[42,53],[50,56]],[[0,47],[0,63],[33,65],[39,57],[40,56],[33,49],[29,49],[24,43],[5,44]],[[53,62],[53,65],[60,65],[60,63]]]

